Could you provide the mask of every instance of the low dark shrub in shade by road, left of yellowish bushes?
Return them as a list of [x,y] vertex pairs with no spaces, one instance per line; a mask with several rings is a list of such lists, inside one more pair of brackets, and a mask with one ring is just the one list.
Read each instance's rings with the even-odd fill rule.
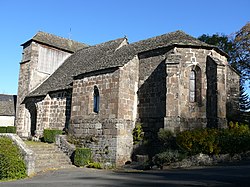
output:
[[182,159],[182,155],[178,150],[168,149],[162,153],[156,154],[152,161],[155,165],[162,168],[164,164],[170,164],[171,162],[176,162]]

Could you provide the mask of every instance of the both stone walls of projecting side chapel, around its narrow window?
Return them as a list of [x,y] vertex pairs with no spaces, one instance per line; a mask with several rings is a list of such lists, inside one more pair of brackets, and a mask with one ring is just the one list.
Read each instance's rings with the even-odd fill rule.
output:
[[[115,71],[74,81],[69,132],[84,140],[84,146],[91,148],[96,161],[122,165],[130,160],[137,64],[135,58]],[[98,113],[93,111],[94,86],[98,87],[100,95]]]

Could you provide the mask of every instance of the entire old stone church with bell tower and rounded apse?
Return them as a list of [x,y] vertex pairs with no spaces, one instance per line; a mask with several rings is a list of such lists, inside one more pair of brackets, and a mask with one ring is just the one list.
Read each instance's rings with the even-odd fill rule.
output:
[[94,46],[38,32],[21,46],[18,134],[67,130],[117,165],[130,160],[137,122],[149,136],[224,128],[238,108],[239,75],[227,54],[182,31]]

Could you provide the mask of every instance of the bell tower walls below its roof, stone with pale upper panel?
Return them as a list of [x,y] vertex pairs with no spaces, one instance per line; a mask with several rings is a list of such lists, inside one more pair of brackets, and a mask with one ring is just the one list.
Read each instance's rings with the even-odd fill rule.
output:
[[[58,55],[59,54],[59,55]],[[28,137],[32,133],[32,126],[29,110],[25,108],[22,102],[24,98],[37,86],[39,86],[55,69],[70,55],[58,49],[41,45],[31,41],[23,46],[23,56],[20,63],[18,96],[17,96],[17,114],[16,126],[17,133],[21,137]],[[44,67],[49,68],[49,72],[45,72]],[[47,68],[48,69],[48,68]],[[52,71],[53,69],[53,71]]]

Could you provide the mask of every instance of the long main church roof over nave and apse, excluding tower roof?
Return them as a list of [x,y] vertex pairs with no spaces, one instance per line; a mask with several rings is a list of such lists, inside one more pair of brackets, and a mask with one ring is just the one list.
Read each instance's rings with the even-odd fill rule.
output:
[[71,88],[73,77],[79,74],[120,67],[131,60],[135,55],[162,47],[175,45],[215,48],[182,31],[176,31],[161,36],[141,40],[124,45],[117,49],[125,38],[112,40],[99,45],[81,49],[71,55],[65,62],[29,97],[46,95],[50,91]]

